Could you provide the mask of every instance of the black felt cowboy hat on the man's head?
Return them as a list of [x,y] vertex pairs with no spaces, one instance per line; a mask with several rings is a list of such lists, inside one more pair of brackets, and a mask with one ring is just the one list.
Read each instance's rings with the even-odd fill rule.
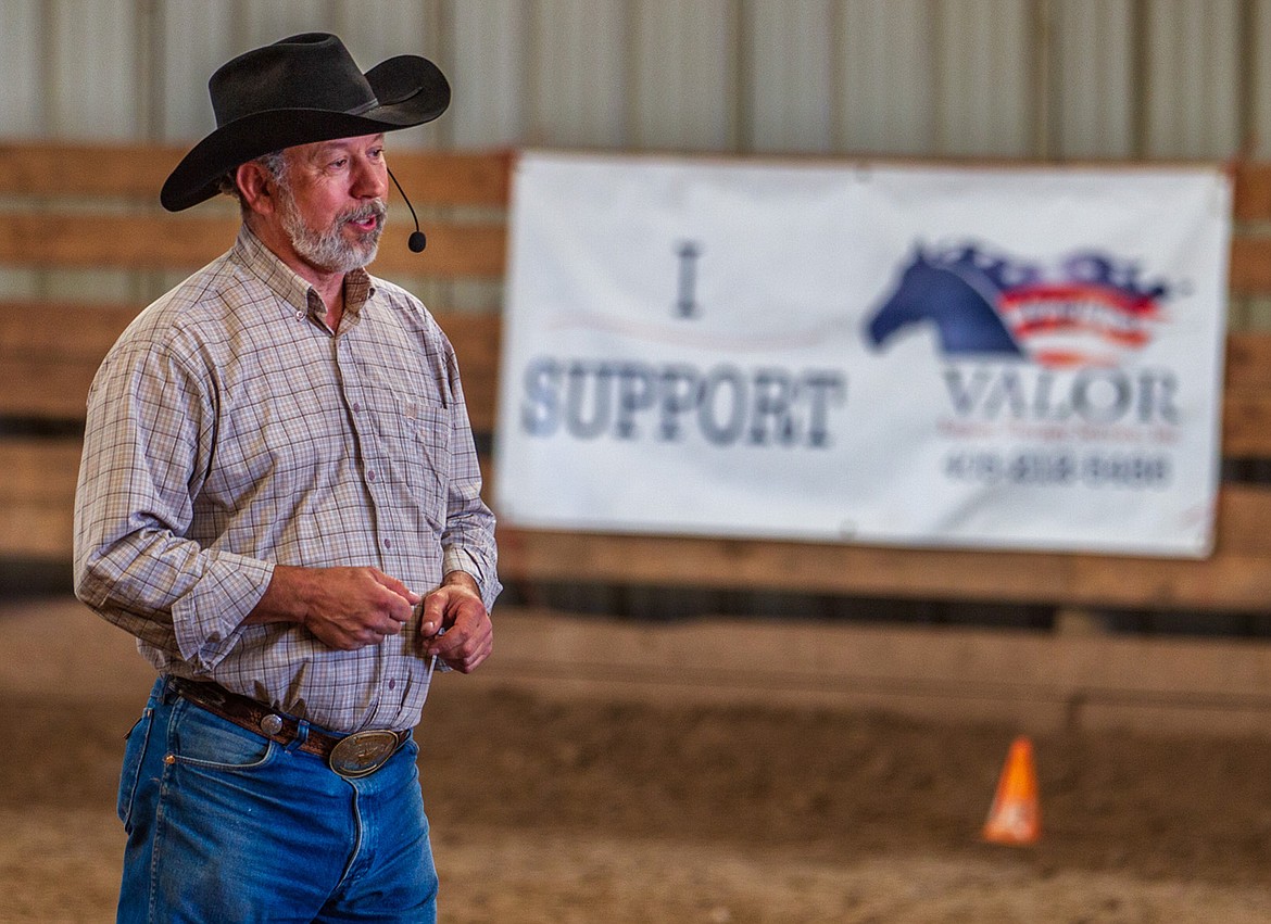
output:
[[399,55],[364,75],[344,43],[324,32],[239,55],[207,81],[216,131],[163,184],[170,212],[216,194],[229,170],[262,154],[313,141],[377,135],[431,122],[450,84],[427,58]]

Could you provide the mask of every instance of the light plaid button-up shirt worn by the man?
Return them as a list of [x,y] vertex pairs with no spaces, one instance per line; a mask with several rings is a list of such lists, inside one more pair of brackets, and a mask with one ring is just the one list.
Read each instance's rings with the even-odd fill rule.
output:
[[417,624],[360,651],[240,625],[275,564],[374,566],[417,592],[500,591],[455,355],[364,271],[332,334],[318,294],[245,228],[142,311],[93,383],[75,510],[80,599],[161,672],[214,679],[333,731],[407,728]]

